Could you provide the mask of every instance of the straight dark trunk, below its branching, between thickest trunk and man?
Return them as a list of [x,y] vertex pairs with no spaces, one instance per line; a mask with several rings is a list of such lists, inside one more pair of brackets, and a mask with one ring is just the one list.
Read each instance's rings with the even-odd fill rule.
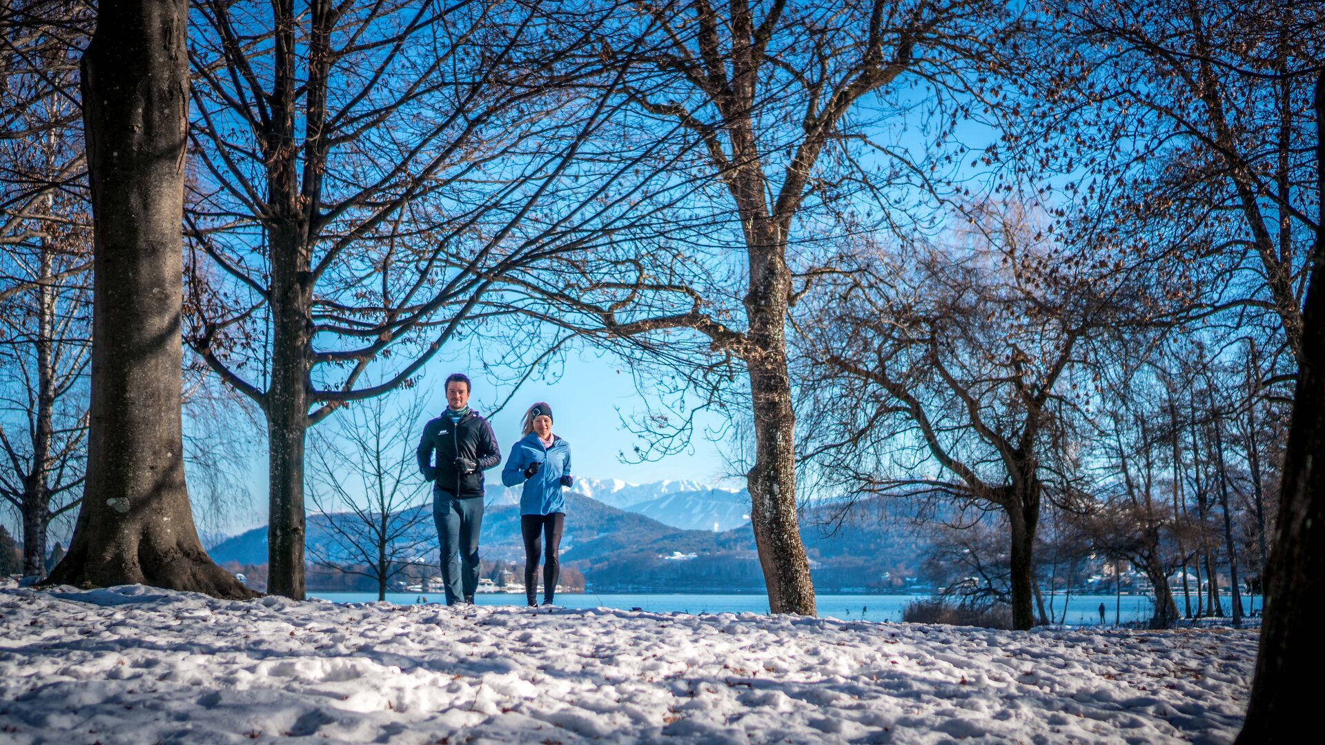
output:
[[309,366],[313,305],[309,253],[297,227],[270,233],[272,383],[264,407],[268,427],[266,591],[303,599],[303,444],[309,428]]

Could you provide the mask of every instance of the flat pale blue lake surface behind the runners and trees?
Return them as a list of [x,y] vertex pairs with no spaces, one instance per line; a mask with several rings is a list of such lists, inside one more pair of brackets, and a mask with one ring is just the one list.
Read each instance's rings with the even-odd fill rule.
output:
[[[371,603],[378,599],[376,593],[309,593],[310,598],[322,598],[337,603]],[[840,620],[901,620],[902,606],[909,602],[928,598],[929,595],[831,595],[816,597],[820,618],[836,618]],[[387,601],[396,604],[415,604],[420,599],[425,602],[443,602],[441,593],[387,593]],[[1065,622],[1069,624],[1100,623],[1100,603],[1105,606],[1106,623],[1114,619],[1114,595],[1072,595],[1068,601]],[[1255,598],[1255,607],[1259,608],[1260,598]],[[523,606],[523,594],[510,593],[481,593],[476,595],[480,606]],[[1244,598],[1246,603],[1247,599]],[[1044,598],[1045,606],[1049,597]],[[567,608],[640,608],[648,612],[685,612],[685,614],[717,614],[717,612],[768,612],[768,597],[762,593],[746,594],[641,594],[641,593],[564,593],[556,597],[556,604]],[[1179,601],[1181,606],[1181,601]],[[1150,618],[1153,599],[1149,595],[1122,595],[1118,606],[1118,619],[1122,623],[1147,620]],[[1244,606],[1248,612],[1251,604]],[[1055,616],[1061,614],[1063,595],[1053,599]]]

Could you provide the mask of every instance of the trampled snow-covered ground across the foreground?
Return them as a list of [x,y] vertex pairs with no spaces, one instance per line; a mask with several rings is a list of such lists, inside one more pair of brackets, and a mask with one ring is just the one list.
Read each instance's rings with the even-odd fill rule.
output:
[[0,742],[1228,742],[1255,631],[0,589]]

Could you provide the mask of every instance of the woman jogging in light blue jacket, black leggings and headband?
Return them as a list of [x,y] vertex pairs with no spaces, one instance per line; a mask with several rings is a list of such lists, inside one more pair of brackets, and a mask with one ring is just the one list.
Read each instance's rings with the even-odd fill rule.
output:
[[543,553],[543,604],[553,604],[556,579],[560,577],[558,553],[566,526],[566,497],[562,489],[571,477],[571,445],[553,435],[553,407],[538,402],[525,412],[525,437],[510,448],[510,457],[501,471],[501,483],[525,485],[519,497],[519,533],[525,540],[525,595],[537,606],[535,577]]

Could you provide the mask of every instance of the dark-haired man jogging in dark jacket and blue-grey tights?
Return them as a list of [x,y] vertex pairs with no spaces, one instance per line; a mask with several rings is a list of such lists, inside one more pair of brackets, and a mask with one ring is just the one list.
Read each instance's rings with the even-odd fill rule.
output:
[[441,544],[441,581],[448,606],[474,602],[484,471],[501,463],[492,426],[469,408],[469,378],[464,374],[447,376],[447,411],[424,424],[415,453],[423,477],[433,481],[432,518]]

